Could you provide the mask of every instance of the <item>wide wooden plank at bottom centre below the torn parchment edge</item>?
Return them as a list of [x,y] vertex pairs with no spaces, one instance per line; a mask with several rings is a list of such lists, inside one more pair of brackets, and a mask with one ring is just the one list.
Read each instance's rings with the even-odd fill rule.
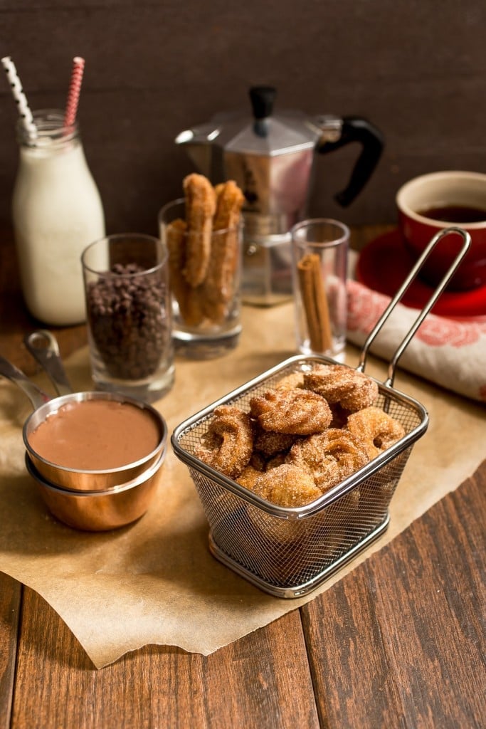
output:
[[96,671],[55,611],[26,588],[12,729],[34,726],[317,728],[299,612],[208,657],[146,646]]

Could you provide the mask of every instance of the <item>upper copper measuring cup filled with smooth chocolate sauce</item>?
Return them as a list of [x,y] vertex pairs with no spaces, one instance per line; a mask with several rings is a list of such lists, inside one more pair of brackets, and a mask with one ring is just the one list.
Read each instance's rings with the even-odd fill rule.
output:
[[142,475],[165,453],[167,426],[145,402],[75,392],[40,405],[23,426],[39,474],[68,491],[106,491]]

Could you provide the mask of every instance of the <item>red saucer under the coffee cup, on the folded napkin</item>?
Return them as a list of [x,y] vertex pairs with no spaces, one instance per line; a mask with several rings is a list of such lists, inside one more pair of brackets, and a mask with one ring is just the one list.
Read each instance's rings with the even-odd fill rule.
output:
[[[369,289],[394,296],[413,265],[414,260],[405,248],[399,230],[391,230],[375,238],[361,251],[356,278]],[[421,309],[433,293],[431,286],[416,278],[401,303]],[[486,285],[471,291],[446,291],[432,311],[439,316],[485,316]]]

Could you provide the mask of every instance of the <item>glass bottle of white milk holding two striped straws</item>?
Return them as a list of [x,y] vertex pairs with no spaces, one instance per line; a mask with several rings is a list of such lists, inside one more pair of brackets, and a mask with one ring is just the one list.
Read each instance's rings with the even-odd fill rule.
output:
[[36,136],[19,123],[12,216],[23,296],[45,324],[85,321],[81,254],[105,235],[101,198],[77,125],[63,112],[34,112]]

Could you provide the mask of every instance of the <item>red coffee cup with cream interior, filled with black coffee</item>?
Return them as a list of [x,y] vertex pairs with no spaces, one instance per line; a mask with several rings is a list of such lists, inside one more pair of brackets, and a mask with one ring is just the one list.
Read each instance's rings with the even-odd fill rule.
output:
[[[471,248],[448,289],[466,291],[486,284],[486,174],[444,171],[415,177],[396,193],[396,206],[404,244],[415,259],[438,230],[460,227],[471,235]],[[461,243],[460,235],[447,235],[420,277],[431,286],[439,284]]]

